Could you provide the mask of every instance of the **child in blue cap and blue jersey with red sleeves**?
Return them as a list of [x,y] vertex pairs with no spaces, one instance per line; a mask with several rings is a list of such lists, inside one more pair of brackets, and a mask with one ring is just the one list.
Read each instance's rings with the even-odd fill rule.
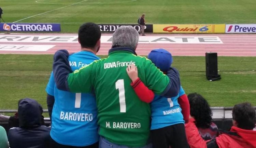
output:
[[[165,49],[152,50],[148,54],[148,59],[163,73],[170,69],[173,62],[171,53]],[[139,80],[135,65],[128,66],[127,73],[131,79],[137,78]],[[134,84],[132,83],[131,85],[133,86]],[[153,148],[169,148],[169,146],[171,148],[188,148],[184,122],[188,121],[190,109],[188,98],[183,88],[180,88],[179,94],[175,97],[166,98],[155,94],[152,99],[152,97],[148,97],[149,94],[152,94],[152,91],[145,89],[144,87],[146,86],[143,83],[141,85],[140,88],[133,88],[142,101],[151,105]],[[146,91],[142,92],[142,90]]]

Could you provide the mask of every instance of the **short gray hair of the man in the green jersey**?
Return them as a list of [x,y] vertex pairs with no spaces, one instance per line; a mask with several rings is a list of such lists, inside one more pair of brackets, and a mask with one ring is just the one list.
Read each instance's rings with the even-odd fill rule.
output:
[[125,46],[135,50],[139,42],[139,33],[132,26],[121,26],[112,37],[112,46]]

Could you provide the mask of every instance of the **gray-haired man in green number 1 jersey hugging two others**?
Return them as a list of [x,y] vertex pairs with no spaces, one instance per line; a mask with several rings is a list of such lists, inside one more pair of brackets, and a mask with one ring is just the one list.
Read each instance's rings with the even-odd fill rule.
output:
[[[73,93],[95,92],[98,108],[100,148],[151,147],[150,105],[142,102],[134,87],[143,82],[156,94],[173,97],[179,93],[179,72],[171,68],[163,74],[146,57],[137,56],[138,32],[131,26],[118,28],[112,39],[112,48],[105,59],[96,60],[72,72],[67,50],[54,55],[53,72],[56,86]],[[136,65],[139,78],[132,82],[126,68]]]

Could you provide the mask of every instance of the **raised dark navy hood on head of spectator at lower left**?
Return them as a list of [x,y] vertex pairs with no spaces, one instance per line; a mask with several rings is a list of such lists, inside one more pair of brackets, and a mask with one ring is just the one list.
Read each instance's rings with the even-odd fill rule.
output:
[[30,129],[41,126],[42,106],[30,98],[22,99],[18,107],[19,127]]

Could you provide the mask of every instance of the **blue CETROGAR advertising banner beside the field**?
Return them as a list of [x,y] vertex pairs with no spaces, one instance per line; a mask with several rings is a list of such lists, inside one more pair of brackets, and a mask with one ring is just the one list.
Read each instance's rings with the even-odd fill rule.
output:
[[0,31],[60,31],[58,23],[0,23]]

